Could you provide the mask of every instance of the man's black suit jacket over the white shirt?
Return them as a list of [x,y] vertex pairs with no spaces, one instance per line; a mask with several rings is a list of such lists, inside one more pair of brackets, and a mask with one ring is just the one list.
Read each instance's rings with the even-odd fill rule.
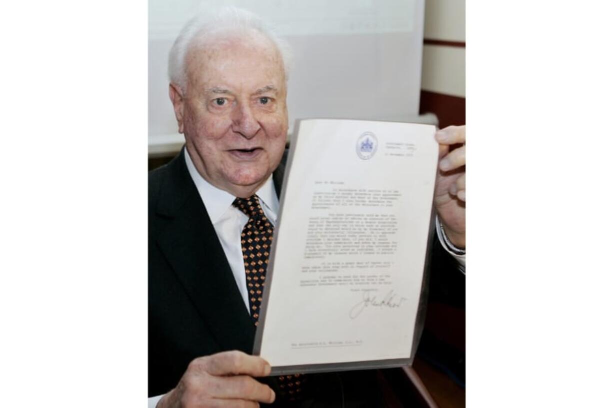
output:
[[[255,327],[184,154],[185,149],[149,175],[150,396],[175,387],[196,357],[253,349]],[[277,194],[285,159],[273,173]],[[341,388],[359,389],[373,377],[366,371],[319,380],[327,385],[345,380]]]

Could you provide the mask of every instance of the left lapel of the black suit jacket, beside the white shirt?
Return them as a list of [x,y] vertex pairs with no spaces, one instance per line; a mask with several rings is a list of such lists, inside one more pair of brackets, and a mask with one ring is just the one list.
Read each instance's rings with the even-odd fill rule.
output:
[[158,244],[221,347],[251,353],[255,327],[183,154],[169,164]]

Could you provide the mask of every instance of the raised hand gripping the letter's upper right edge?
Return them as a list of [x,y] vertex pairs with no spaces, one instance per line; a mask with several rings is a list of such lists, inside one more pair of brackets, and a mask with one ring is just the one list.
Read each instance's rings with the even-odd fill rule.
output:
[[466,247],[466,126],[438,130],[438,172],[434,205],[447,238]]

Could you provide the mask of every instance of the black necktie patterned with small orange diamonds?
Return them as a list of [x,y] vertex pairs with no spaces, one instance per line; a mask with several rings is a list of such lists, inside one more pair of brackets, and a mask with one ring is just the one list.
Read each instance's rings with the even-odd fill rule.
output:
[[[249,221],[243,227],[243,232],[240,235],[240,246],[243,250],[249,309],[251,310],[251,318],[257,326],[257,319],[260,317],[266,269],[268,268],[268,256],[270,255],[270,246],[272,245],[275,227],[265,216],[257,195],[251,195],[249,198],[237,198],[232,205],[249,217]],[[278,382],[281,389],[277,394],[281,398],[286,398],[290,401],[300,398],[302,397],[306,381],[307,378],[303,374],[279,376]]]

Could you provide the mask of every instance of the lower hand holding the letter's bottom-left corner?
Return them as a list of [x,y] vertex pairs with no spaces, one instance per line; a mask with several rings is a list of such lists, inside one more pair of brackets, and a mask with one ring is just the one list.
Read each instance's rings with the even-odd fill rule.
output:
[[177,387],[158,402],[158,408],[259,407],[275,401],[275,391],[253,377],[270,374],[261,357],[240,351],[199,357],[189,363]]

